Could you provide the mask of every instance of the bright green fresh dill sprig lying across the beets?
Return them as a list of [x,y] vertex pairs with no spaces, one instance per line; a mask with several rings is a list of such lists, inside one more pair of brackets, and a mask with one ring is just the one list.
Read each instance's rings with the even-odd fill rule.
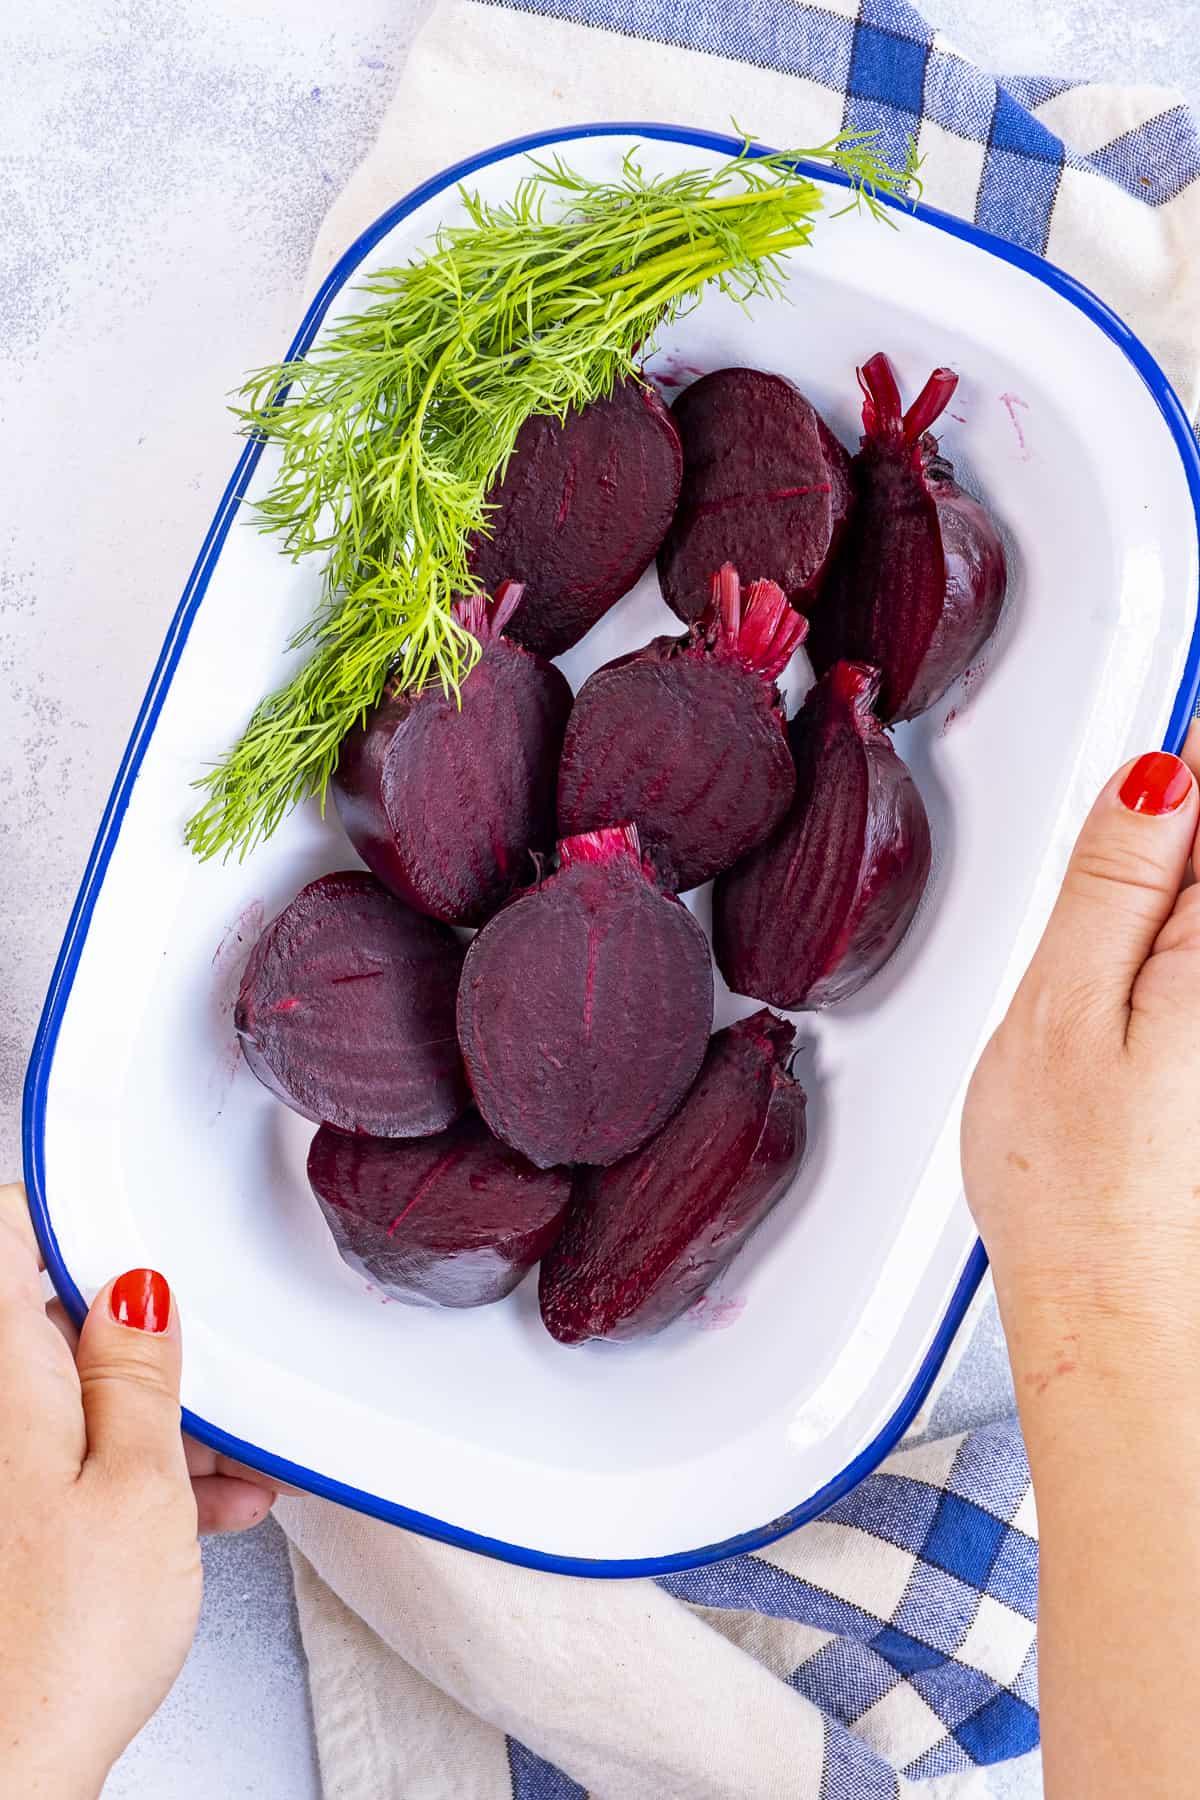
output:
[[916,175],[874,133],[772,157],[747,142],[682,175],[630,153],[615,182],[531,157],[511,202],[462,191],[468,223],[367,281],[372,304],[308,356],[250,376],[236,416],[281,450],[259,520],[290,556],[324,554],[324,598],[291,641],[309,661],[196,783],[200,857],[245,857],[299,801],[324,806],[338,745],[389,677],[457,691],[479,644],[452,601],[473,587],[470,542],[522,423],[610,394],[709,283],[741,304],[781,293],[822,203],[799,160],[840,169],[874,214]]

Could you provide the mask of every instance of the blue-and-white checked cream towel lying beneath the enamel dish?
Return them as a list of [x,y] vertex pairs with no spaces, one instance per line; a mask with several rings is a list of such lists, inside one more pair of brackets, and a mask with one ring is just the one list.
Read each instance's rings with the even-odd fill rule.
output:
[[[925,198],[1096,288],[1195,418],[1187,110],[997,81],[905,0],[441,0],[313,275],[497,139],[732,117],[774,144],[880,130],[901,155],[916,137]],[[1038,1741],[1011,1422],[905,1449],[770,1550],[660,1584],[531,1575],[315,1501],[279,1516],[331,1800],[964,1800]]]

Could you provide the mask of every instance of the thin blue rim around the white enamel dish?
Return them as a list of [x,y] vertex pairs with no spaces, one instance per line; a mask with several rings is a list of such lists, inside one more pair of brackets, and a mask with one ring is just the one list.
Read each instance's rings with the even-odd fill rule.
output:
[[[658,140],[669,144],[685,144],[693,149],[714,151],[718,155],[730,155],[741,149],[741,140],[727,137],[718,131],[698,131],[685,130],[678,126],[666,124],[585,124],[569,126],[556,131],[536,131],[529,137],[511,139],[506,144],[497,144],[491,149],[480,151],[475,157],[468,157],[464,162],[444,169],[441,175],[432,176],[419,187],[414,187],[410,194],[389,207],[374,225],[354,239],[349,250],[340,257],[340,261],[329,270],[326,281],[322,283],[313,304],[304,315],[304,322],[295,335],[295,340],[288,351],[288,358],[300,356],[308,351],[318,326],[322,324],[326,311],[329,310],[335,295],[345,286],[349,277],[354,274],[362,259],[387,236],[403,218],[421,207],[426,200],[444,193],[448,187],[455,187],[459,182],[489,167],[493,162],[502,162],[507,157],[516,157],[525,151],[545,149],[551,144],[563,144],[579,139],[592,137],[633,137],[644,140]],[[770,155],[765,146],[754,146],[752,155],[763,157]],[[817,182],[829,185],[847,187],[849,182],[837,169],[824,169],[820,166],[799,164],[804,175],[810,175]],[[1022,250],[1016,245],[1006,243],[1002,238],[995,238],[991,232],[981,230],[977,225],[966,220],[954,218],[948,212],[939,212],[934,207],[925,207],[921,203],[909,205],[905,202],[885,202],[898,211],[909,211],[916,218],[928,225],[936,225],[939,230],[948,232],[952,238],[963,238],[966,243],[977,245],[990,256],[1000,257],[1004,263],[1013,263],[1022,268],[1027,275],[1052,288],[1063,299],[1078,306],[1092,324],[1096,324],[1105,337],[1128,356],[1142,382],[1150,389],[1166,425],[1175,439],[1175,445],[1184,464],[1184,473],[1187,477],[1187,486],[1191,491],[1193,509],[1196,513],[1196,535],[1200,540],[1200,452],[1196,450],[1196,439],[1191,430],[1191,423],[1178,396],[1171,389],[1166,374],[1144,347],[1144,344],[1130,331],[1130,328],[1110,311],[1103,301],[1096,299],[1085,286],[1065,275],[1054,265],[1045,263],[1042,257],[1029,250]],[[212,569],[216,567],[218,556],[225,538],[228,536],[228,527],[241,506],[243,495],[250,482],[250,477],[257,466],[259,455],[263,454],[261,443],[248,443],[243,450],[232,479],[221,495],[221,504],[216,509],[216,517],[209,526],[209,533],[196,558],[196,565],[187,580],[184,596],[175,612],[171,626],[167,630],[166,643],[158,655],[155,673],[151,677],[146,698],[142,700],[137,722],[133,725],[133,734],[126,745],[126,752],[121,760],[117,770],[117,779],[113,783],[108,805],[101,817],[101,826],[95,835],[95,844],[92,846],[92,855],[88,857],[88,866],[79,886],[79,895],[67,925],[67,934],[63,938],[63,947],[58,954],[54,965],[54,974],[50,977],[50,986],[47,992],[45,1006],[41,1012],[41,1022],[38,1026],[38,1035],[34,1039],[32,1057],[29,1062],[29,1071],[25,1076],[25,1096],[22,1112],[22,1143],[25,1159],[25,1183],[29,1188],[29,1204],[34,1220],[34,1229],[38,1233],[38,1242],[45,1256],[47,1271],[54,1287],[63,1300],[63,1305],[72,1314],[76,1321],[86,1312],[86,1301],[79,1289],[76,1287],[63,1255],[58,1246],[58,1237],[50,1222],[50,1210],[45,1193],[45,1103],[47,1103],[47,1085],[50,1076],[50,1064],[54,1060],[54,1046],[58,1040],[59,1024],[67,1001],[70,997],[72,981],[86,941],[88,925],[92,920],[92,911],[95,907],[97,895],[101,891],[104,871],[108,860],[113,853],[117,837],[121,833],[121,821],[124,817],[126,806],[130,803],[130,794],[137,779],[142,756],[153,736],[158,711],[166,698],[167,688],[175,675],[175,668],[187,643],[187,634],[191,623],[196,616]],[[1198,596],[1200,608],[1200,596]],[[1175,706],[1171,707],[1171,718],[1166,731],[1166,749],[1178,749],[1187,729],[1187,722],[1196,706],[1196,691],[1200,689],[1200,610],[1196,625],[1193,626],[1191,643],[1187,648],[1187,662],[1184,668],[1184,677],[1175,695]],[[635,1561],[610,1561],[610,1559],[588,1559],[588,1557],[567,1557],[551,1555],[542,1550],[531,1550],[522,1544],[502,1543],[495,1537],[484,1537],[479,1532],[468,1532],[461,1526],[448,1525],[444,1519],[428,1517],[423,1512],[414,1512],[408,1507],[401,1507],[394,1501],[380,1499],[376,1494],[365,1494],[360,1489],[347,1487],[344,1481],[335,1481],[329,1476],[317,1472],[315,1469],[304,1469],[297,1463],[286,1462],[281,1456],[273,1456],[270,1451],[259,1449],[255,1444],[246,1444],[241,1438],[232,1436],[228,1431],[221,1431],[219,1426],[209,1424],[205,1418],[198,1418],[193,1411],[184,1408],[184,1429],[201,1444],[221,1451],[227,1456],[236,1458],[241,1463],[248,1463],[259,1469],[263,1474],[273,1476],[291,1487],[306,1489],[311,1494],[318,1494],[324,1499],[333,1499],[342,1507],[351,1507],[356,1512],[369,1514],[376,1519],[385,1519],[390,1525],[405,1526],[412,1532],[421,1532],[426,1537],[437,1537],[443,1543],[457,1544],[462,1550],[475,1550],[482,1555],[498,1557],[506,1562],[518,1562],[525,1568],[549,1570],[560,1575],[588,1575],[588,1577],[646,1577],[646,1575],[671,1575],[678,1570],[700,1568],[705,1562],[718,1562],[723,1557],[743,1555],[748,1550],[761,1550],[765,1544],[774,1543],[786,1532],[795,1530],[808,1519],[815,1519],[820,1512],[831,1507],[837,1499],[849,1492],[864,1476],[871,1474],[874,1467],[887,1456],[891,1449],[900,1442],[909,1424],[916,1417],[925,1400],[937,1370],[950,1348],[950,1343],[963,1323],[966,1309],[972,1303],[975,1289],[979,1287],[982,1274],[988,1267],[988,1258],[984,1255],[982,1244],[975,1242],[963,1274],[959,1276],[957,1287],[950,1300],[950,1305],[934,1334],[934,1339],[925,1352],[921,1366],[905,1393],[903,1400],[891,1415],[887,1424],[871,1444],[858,1454],[846,1469],[840,1471],[831,1481],[828,1481],[819,1492],[811,1494],[801,1505],[793,1507],[790,1512],[770,1519],[766,1525],[757,1526],[757,1530],[741,1532],[736,1537],[727,1537],[720,1544],[703,1544],[698,1550],[682,1550],[675,1555],[664,1557],[639,1557]]]

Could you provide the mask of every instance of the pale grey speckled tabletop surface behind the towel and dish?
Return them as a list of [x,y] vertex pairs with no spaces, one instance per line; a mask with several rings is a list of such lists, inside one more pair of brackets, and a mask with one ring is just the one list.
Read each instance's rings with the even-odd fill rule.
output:
[[[236,454],[223,396],[290,338],[322,212],[423,11],[38,0],[0,16],[4,1172],[20,1166],[20,1082],[83,860]],[[927,13],[991,68],[1200,95],[1198,0]],[[139,554],[146,518],[153,563]],[[936,1427],[1009,1402],[993,1309]],[[268,1525],[210,1543],[205,1568],[193,1656],[106,1800],[315,1800],[282,1537]],[[1036,1759],[991,1791],[1038,1795]]]

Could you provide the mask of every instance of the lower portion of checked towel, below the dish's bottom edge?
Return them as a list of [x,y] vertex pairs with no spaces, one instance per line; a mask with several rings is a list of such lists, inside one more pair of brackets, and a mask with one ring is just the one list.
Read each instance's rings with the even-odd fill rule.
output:
[[660,1582],[534,1575],[317,1501],[277,1517],[327,1800],[963,1800],[1038,1742],[1013,1422]]

